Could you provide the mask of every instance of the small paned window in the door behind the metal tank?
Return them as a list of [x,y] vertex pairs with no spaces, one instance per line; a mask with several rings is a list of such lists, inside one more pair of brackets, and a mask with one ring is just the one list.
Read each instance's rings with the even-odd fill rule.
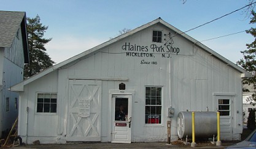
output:
[[229,99],[219,99],[219,112],[221,116],[230,116]]

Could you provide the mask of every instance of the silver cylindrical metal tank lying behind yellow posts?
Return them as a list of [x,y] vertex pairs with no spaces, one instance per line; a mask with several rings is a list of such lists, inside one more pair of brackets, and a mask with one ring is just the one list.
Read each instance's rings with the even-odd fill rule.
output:
[[[177,118],[179,138],[192,137],[192,112],[179,112]],[[217,113],[195,112],[195,137],[209,138],[217,136]]]

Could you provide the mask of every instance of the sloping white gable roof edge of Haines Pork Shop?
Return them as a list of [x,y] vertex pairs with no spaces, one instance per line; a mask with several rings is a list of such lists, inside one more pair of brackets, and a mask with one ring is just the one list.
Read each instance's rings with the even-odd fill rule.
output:
[[21,92],[23,91],[23,86],[26,84],[29,84],[30,82],[35,81],[36,79],[41,78],[42,76],[45,76],[48,73],[51,73],[52,71],[57,70],[58,68],[64,67],[65,65],[71,64],[71,62],[75,62],[75,60],[79,60],[80,58],[87,56],[88,54],[95,53],[99,49],[103,48],[104,46],[111,45],[112,43],[117,42],[118,40],[121,40],[125,37],[128,37],[130,35],[135,34],[136,32],[142,31],[143,29],[152,26],[154,24],[163,24],[164,26],[168,27],[169,29],[173,30],[174,32],[177,32],[180,36],[187,38],[190,42],[192,42],[194,45],[197,45],[201,48],[203,48],[205,51],[208,51],[212,56],[215,56],[217,59],[221,60],[227,65],[230,65],[230,67],[234,68],[236,71],[239,71],[241,73],[241,77],[251,77],[251,74],[242,69],[241,67],[238,67],[237,65],[233,64],[230,60],[226,59],[223,56],[220,56],[220,54],[216,53],[212,49],[208,48],[207,46],[203,45],[202,43],[198,42],[194,38],[190,37],[189,35],[185,34],[184,32],[180,31],[176,27],[172,26],[169,23],[166,23],[163,21],[161,18],[158,18],[156,20],[151,21],[150,23],[144,24],[136,29],[133,29],[130,32],[127,32],[126,34],[122,34],[118,37],[113,38],[112,40],[109,40],[107,42],[102,43],[101,45],[95,46],[94,48],[88,49],[87,51],[84,51],[83,53],[80,53],[74,57],[71,57],[70,59],[64,60],[63,62],[60,62],[59,64],[53,65],[52,67],[42,71],[41,73],[35,74],[34,76],[31,76],[31,78],[26,79],[23,82],[20,82],[19,84],[16,84],[10,88],[10,90],[15,91],[15,92]]

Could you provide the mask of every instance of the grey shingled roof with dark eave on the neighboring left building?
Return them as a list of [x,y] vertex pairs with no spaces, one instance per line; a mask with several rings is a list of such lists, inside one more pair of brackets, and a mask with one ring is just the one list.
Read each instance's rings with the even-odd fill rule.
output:
[[10,48],[21,27],[25,64],[29,63],[28,37],[26,34],[26,13],[0,11],[0,47]]

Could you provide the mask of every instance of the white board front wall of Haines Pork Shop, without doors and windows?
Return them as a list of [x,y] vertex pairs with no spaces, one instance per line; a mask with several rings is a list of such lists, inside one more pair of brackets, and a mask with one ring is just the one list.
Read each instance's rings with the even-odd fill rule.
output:
[[[109,90],[118,89],[118,84],[121,82],[126,84],[126,90],[135,90],[132,142],[165,141],[168,120],[172,121],[171,138],[176,140],[178,112],[206,111],[206,107],[209,108],[209,111],[217,111],[215,95],[218,93],[232,95],[233,110],[235,111],[232,124],[233,139],[239,139],[239,133],[242,133],[242,126],[239,125],[242,122],[241,74],[180,36],[173,38],[174,44],[172,45],[179,47],[180,53],[171,55],[171,58],[161,57],[161,53],[154,53],[154,57],[126,56],[127,51],[122,49],[125,43],[149,46],[149,51],[152,51],[150,49],[152,44],[163,46],[163,43],[151,42],[153,29],[161,30],[164,33],[172,32],[166,27],[156,24],[25,85],[25,92],[20,94],[21,120],[19,126],[21,129],[19,134],[23,140],[26,137],[25,107],[28,106],[28,143],[36,139],[40,139],[41,143],[62,142],[66,135],[68,79],[88,78],[129,78],[128,81],[102,81],[102,142],[111,141]],[[174,33],[172,32],[172,34]],[[141,60],[157,62],[157,65],[142,65]],[[144,124],[145,85],[163,87],[162,125]],[[58,108],[60,108],[58,115],[45,115],[44,117],[36,115],[34,112],[36,92],[58,92]],[[167,117],[167,109],[170,106],[175,109],[173,118]],[[58,121],[55,120],[56,117],[58,117]],[[49,118],[54,119],[53,122],[47,124],[47,128],[50,127],[50,130],[44,128],[35,130],[36,124]],[[57,124],[58,126],[56,126]],[[55,134],[55,132],[57,133]]]

